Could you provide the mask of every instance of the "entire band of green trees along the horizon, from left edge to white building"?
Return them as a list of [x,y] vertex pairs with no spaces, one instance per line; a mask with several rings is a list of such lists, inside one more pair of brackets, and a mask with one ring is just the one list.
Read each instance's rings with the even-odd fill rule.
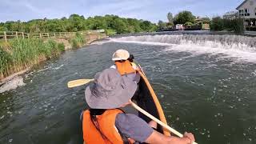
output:
[[159,21],[158,25],[136,18],[120,18],[117,15],[105,15],[84,18],[82,15],[71,14],[69,18],[34,19],[29,22],[1,22],[0,31],[21,31],[26,33],[76,32],[82,30],[106,30],[106,34],[126,34],[174,30],[175,25],[182,24],[191,29],[200,29],[202,24],[210,24],[210,30],[228,30],[241,34],[243,24],[241,19],[227,20],[220,17],[199,18],[192,12],[184,10],[175,14],[168,13],[168,22]]

